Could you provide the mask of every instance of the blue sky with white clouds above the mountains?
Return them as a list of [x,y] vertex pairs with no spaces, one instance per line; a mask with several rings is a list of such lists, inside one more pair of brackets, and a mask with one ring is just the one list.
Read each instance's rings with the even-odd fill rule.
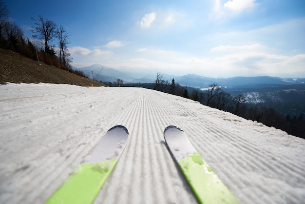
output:
[[77,68],[305,78],[305,0],[3,1],[24,37],[31,17],[62,25]]

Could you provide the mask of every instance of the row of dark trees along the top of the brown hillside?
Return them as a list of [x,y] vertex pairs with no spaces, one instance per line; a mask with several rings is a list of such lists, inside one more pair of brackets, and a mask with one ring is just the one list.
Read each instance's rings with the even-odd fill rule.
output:
[[67,48],[70,38],[65,28],[41,15],[31,20],[32,39],[25,39],[22,28],[10,19],[9,9],[0,0],[0,48],[37,60],[38,64],[43,61],[84,77],[81,71],[71,67],[73,59]]

